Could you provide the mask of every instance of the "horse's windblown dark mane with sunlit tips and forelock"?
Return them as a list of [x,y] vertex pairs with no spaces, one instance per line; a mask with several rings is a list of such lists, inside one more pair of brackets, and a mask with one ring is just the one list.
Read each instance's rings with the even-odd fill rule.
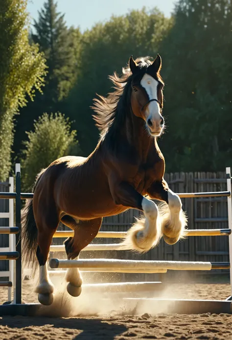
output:
[[116,127],[124,121],[129,111],[128,107],[130,107],[131,83],[136,78],[138,80],[142,78],[152,61],[147,56],[137,58],[136,63],[139,67],[138,74],[133,75],[129,67],[122,69],[123,74],[121,77],[114,72],[113,75],[109,76],[109,79],[113,82],[115,91],[108,93],[106,97],[97,94],[99,98],[93,99],[94,105],[92,108],[96,113],[93,115],[93,119],[101,137],[105,136],[110,127]]

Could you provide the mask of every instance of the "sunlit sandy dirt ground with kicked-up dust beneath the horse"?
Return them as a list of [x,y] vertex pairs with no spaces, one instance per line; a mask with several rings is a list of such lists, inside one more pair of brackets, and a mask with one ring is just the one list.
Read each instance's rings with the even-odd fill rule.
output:
[[[38,302],[33,288],[30,281],[23,281],[24,301]],[[67,302],[64,285],[62,289],[55,295],[61,304],[54,304],[51,317],[0,317],[0,340],[232,339],[232,316],[228,314],[157,314],[150,305],[133,315],[120,310],[120,304],[104,301],[100,294],[67,297]],[[222,300],[229,295],[229,284],[197,283],[173,284],[162,297]],[[7,289],[0,288],[0,302],[6,300]],[[52,317],[56,309],[71,316]]]

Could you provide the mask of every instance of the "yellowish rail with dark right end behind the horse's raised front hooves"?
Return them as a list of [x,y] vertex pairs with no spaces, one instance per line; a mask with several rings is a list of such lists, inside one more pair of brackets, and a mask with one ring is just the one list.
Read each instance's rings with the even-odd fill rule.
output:
[[[230,234],[231,234],[231,229],[229,228],[228,229],[189,229],[189,230],[186,230],[185,232],[185,236],[225,236],[225,235],[230,235]],[[72,237],[73,235],[74,235],[74,231],[72,230],[56,231],[55,234],[53,235],[53,238]],[[99,231],[96,235],[96,237],[98,238],[123,238],[125,236],[126,236],[126,231]],[[92,245],[89,245],[89,246],[92,246]],[[98,245],[94,245],[94,246],[98,246]],[[51,246],[51,247],[59,247],[59,246]],[[60,247],[63,247],[63,246],[60,246]],[[91,250],[94,250],[94,249],[91,249]],[[100,249],[96,249],[96,250],[100,250]],[[57,250],[57,251],[61,251],[61,250]]]

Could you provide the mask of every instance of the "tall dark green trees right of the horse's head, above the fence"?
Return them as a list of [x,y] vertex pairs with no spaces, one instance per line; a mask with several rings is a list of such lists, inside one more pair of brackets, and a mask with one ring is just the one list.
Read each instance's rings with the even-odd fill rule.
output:
[[161,147],[167,171],[232,165],[231,53],[231,1],[177,3],[174,25],[161,47],[168,118]]

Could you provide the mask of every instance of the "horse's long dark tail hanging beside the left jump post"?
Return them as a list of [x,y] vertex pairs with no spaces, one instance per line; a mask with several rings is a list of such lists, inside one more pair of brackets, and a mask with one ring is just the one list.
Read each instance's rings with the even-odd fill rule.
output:
[[[41,179],[46,169],[43,169],[36,177],[36,181],[32,187],[34,192],[38,181]],[[33,199],[26,200],[26,204],[22,210],[22,259],[23,263],[31,265],[33,274],[35,273],[38,265],[36,258],[37,250],[37,227],[33,212]]]

